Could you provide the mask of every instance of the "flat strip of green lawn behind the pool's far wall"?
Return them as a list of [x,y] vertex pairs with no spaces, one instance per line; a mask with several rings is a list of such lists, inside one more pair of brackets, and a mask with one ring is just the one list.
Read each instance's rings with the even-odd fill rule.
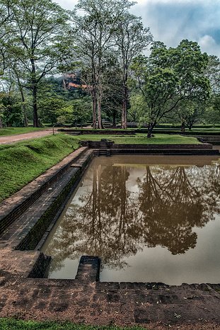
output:
[[117,144],[200,144],[195,137],[185,137],[181,135],[155,134],[148,139],[146,134],[138,133],[131,135],[78,135],[80,140],[97,141],[100,139],[113,140]]

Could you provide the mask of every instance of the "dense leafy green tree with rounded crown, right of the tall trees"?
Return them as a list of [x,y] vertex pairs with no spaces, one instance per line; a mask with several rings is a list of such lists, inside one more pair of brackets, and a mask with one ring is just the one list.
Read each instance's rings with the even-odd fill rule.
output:
[[156,42],[149,57],[135,59],[132,68],[146,104],[148,137],[181,101],[209,98],[209,79],[204,75],[207,64],[207,54],[189,40],[169,49]]

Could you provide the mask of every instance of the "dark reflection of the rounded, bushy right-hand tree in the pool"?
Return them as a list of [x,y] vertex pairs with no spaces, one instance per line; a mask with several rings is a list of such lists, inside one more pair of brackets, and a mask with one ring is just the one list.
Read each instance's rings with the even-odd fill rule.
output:
[[200,224],[201,194],[188,180],[185,169],[178,167],[154,178],[149,166],[139,181],[139,203],[144,217],[144,239],[149,247],[166,246],[172,254],[194,248],[197,234],[192,227]]

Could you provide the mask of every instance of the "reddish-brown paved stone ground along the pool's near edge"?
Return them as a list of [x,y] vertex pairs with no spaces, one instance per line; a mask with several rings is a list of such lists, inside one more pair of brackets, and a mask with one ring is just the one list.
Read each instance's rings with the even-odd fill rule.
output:
[[87,283],[28,278],[38,251],[5,249],[0,317],[147,329],[220,329],[220,285]]

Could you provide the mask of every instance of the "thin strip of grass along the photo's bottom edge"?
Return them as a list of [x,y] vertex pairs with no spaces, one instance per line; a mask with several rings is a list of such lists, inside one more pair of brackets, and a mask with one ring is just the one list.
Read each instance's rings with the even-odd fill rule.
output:
[[[15,319],[0,319],[1,330],[144,330],[139,326],[123,327],[118,326],[86,326],[73,324],[71,322],[35,322],[21,321]],[[145,329],[146,330],[146,329]]]

